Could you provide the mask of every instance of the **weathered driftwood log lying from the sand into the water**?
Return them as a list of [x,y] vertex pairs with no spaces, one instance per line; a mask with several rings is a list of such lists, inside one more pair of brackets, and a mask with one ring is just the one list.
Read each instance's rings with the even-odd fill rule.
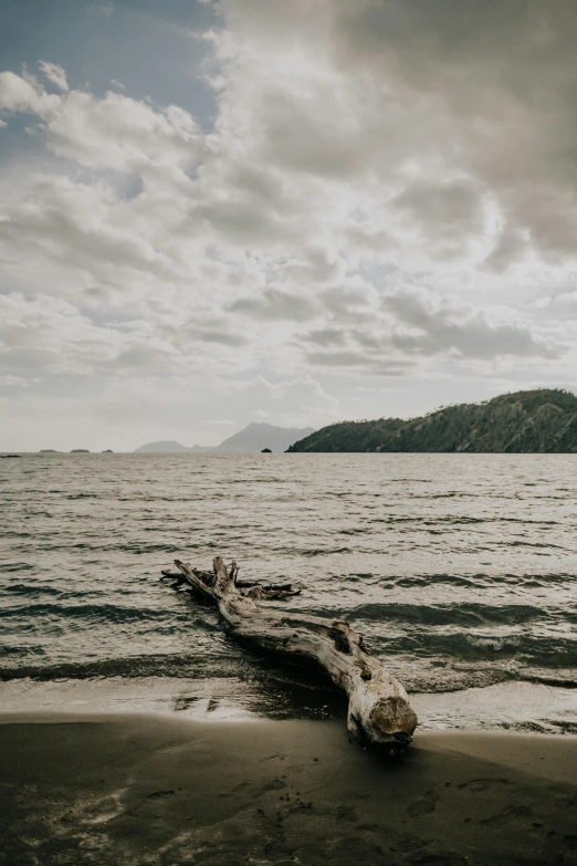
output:
[[[239,581],[238,566],[229,568],[217,556],[213,572],[200,572],[175,560],[179,572],[162,572],[174,586],[188,584],[216,605],[232,635],[266,651],[314,659],[348,695],[347,728],[353,742],[402,752],[412,739],[417,716],[407,692],[363,637],[348,623],[266,608],[262,602],[295,595],[291,584]],[[161,580],[162,580],[161,578]]]

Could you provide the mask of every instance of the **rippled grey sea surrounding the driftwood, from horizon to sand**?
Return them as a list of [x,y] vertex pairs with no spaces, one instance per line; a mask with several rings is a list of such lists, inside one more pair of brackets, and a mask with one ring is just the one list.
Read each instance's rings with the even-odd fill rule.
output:
[[342,698],[159,581],[292,581],[423,727],[577,731],[577,457],[23,455],[0,460],[0,705],[326,717]]

